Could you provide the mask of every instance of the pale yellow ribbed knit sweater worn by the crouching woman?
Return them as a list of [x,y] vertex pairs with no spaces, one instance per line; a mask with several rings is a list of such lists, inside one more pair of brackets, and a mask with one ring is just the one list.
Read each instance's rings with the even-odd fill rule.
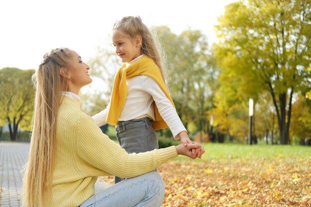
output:
[[175,146],[128,154],[64,97],[58,111],[52,201],[45,207],[78,207],[94,195],[97,176],[135,177],[177,156]]

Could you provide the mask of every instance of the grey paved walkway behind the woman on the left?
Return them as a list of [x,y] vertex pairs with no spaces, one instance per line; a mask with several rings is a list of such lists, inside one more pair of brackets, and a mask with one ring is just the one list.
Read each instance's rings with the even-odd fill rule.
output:
[[[21,207],[21,172],[29,152],[29,143],[0,142],[0,207]],[[102,179],[95,191],[107,188]]]

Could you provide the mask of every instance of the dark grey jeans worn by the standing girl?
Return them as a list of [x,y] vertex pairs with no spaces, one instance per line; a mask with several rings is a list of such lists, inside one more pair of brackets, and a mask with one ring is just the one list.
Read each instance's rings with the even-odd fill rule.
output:
[[[156,132],[152,128],[150,118],[147,117],[118,122],[116,138],[121,147],[128,153],[139,153],[158,149]],[[114,182],[118,183],[122,180],[124,179],[116,176]]]

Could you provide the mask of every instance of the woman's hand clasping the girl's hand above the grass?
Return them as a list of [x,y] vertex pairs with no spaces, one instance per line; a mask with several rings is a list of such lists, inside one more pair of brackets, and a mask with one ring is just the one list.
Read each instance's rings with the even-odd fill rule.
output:
[[177,154],[181,154],[192,159],[195,159],[197,157],[201,158],[202,154],[205,152],[204,147],[195,141],[193,141],[193,143],[188,143],[187,146],[185,146],[184,144],[179,144],[176,146],[176,150]]

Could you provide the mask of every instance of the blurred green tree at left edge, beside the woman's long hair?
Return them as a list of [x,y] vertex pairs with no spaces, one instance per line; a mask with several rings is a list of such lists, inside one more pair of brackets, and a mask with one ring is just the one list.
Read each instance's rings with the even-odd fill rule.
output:
[[16,139],[18,127],[23,120],[30,120],[32,117],[34,87],[31,76],[33,73],[33,69],[0,69],[0,118],[8,124],[11,140]]

